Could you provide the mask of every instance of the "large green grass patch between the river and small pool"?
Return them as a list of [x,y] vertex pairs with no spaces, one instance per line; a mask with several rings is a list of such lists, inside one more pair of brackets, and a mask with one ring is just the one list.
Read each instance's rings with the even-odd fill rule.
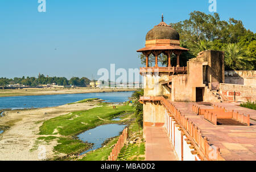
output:
[[39,134],[52,135],[57,128],[59,134],[63,136],[77,135],[101,124],[114,123],[109,120],[117,117],[117,115],[131,111],[134,111],[133,107],[127,105],[117,106],[117,109],[113,109],[110,106],[102,106],[85,111],[76,111],[45,121],[40,127]]

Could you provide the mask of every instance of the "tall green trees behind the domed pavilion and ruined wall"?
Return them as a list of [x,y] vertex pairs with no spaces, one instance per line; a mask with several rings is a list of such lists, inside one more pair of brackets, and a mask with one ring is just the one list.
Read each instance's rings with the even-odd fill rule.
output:
[[[220,20],[220,15],[193,11],[189,19],[170,24],[180,35],[180,46],[189,49],[181,54],[180,64],[186,66],[188,59],[195,58],[203,50],[225,51],[225,70],[256,70],[256,34],[246,29],[241,20]],[[139,54],[142,64],[145,57]],[[154,63],[151,55],[149,62]],[[167,65],[167,56],[161,54],[159,62]],[[172,54],[172,65],[176,56]]]

